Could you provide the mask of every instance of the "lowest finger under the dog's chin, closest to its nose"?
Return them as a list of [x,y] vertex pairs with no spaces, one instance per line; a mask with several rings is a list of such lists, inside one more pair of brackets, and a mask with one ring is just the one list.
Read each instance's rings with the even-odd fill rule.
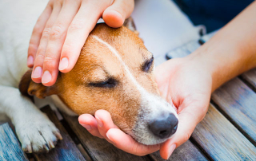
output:
[[138,143],[130,135],[127,135],[117,128],[111,128],[106,135],[114,143],[115,147],[134,155],[147,155],[154,151],[158,151],[160,147],[160,145],[147,146]]

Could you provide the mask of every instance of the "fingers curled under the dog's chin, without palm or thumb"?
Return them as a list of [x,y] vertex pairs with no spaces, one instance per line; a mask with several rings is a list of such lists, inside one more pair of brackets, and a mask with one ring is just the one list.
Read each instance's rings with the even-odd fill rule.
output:
[[78,118],[79,124],[86,128],[90,134],[106,139],[115,147],[134,155],[142,156],[158,151],[160,145],[146,146],[122,132],[113,123],[110,113],[106,110],[98,110],[94,116],[83,114]]

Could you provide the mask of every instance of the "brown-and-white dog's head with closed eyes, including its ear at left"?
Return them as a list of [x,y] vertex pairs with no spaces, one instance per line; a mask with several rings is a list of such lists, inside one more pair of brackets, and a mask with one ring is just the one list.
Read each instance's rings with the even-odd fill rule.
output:
[[140,143],[162,143],[176,132],[178,116],[159,96],[154,81],[154,57],[136,33],[122,26],[98,24],[82,48],[70,73],[60,73],[45,87],[27,72],[20,91],[44,98],[58,97],[78,115],[110,112],[114,124]]

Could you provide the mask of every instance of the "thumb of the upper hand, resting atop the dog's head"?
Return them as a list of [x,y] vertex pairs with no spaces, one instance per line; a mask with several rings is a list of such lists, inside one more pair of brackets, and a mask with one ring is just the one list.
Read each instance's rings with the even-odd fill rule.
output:
[[130,17],[130,14],[134,10],[134,0],[115,0],[114,3],[109,6],[102,18],[104,22],[110,27],[120,27],[126,18]]

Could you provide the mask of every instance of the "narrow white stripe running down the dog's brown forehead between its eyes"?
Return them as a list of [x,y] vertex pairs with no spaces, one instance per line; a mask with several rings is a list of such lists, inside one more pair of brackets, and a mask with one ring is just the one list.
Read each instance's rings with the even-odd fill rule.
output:
[[125,64],[124,61],[122,61],[122,58],[120,57],[120,55],[118,54],[118,51],[116,49],[114,49],[110,44],[108,44],[106,41],[103,41],[101,38],[93,35],[93,37],[98,40],[99,42],[101,42],[103,45],[106,45],[106,47],[108,49],[110,49],[110,51],[112,53],[114,53],[114,56],[118,57],[118,60],[121,61],[122,66],[124,67],[124,69],[126,70],[126,73],[129,75],[130,80],[134,82],[134,84],[136,85],[136,87],[138,89],[141,89],[142,86],[140,84],[138,84],[138,82],[135,80],[134,76],[130,73],[130,70],[128,69],[127,65]]

